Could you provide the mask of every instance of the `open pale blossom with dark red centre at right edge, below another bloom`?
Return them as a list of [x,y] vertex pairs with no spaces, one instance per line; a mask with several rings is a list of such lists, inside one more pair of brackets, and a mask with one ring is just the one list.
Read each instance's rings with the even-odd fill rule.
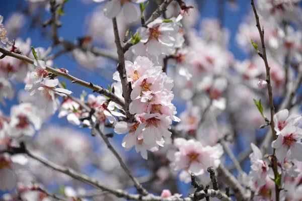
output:
[[272,142],[272,147],[276,149],[278,161],[284,163],[286,152],[289,149],[291,156],[298,161],[302,161],[302,129],[296,128],[292,124],[286,125]]

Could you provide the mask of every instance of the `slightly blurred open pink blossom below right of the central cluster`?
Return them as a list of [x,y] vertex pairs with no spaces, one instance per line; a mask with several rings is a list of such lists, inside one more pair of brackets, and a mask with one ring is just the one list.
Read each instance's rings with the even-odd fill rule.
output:
[[223,154],[221,145],[203,146],[193,139],[176,138],[174,145],[179,151],[175,152],[171,167],[175,171],[182,170],[180,179],[186,183],[190,181],[191,172],[202,175],[210,166],[216,169]]

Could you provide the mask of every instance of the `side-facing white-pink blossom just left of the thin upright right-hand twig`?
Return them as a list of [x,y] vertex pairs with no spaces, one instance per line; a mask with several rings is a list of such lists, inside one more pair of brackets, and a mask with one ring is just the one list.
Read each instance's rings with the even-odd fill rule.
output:
[[260,149],[253,143],[251,143],[253,153],[250,154],[251,159],[251,171],[250,176],[252,181],[257,181],[258,186],[265,184],[265,178],[268,172],[268,163],[262,160],[262,153]]

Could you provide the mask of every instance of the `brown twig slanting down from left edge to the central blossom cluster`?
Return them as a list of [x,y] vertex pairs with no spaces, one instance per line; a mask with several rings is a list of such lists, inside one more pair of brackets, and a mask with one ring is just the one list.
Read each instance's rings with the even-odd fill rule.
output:
[[[0,48],[0,52],[3,53],[3,54],[6,54],[7,56],[14,57],[16,59],[25,61],[25,62],[30,63],[30,64],[34,64],[34,60],[28,58],[27,56],[16,54],[16,53],[10,52],[8,50],[5,50],[3,48]],[[93,89],[94,91],[96,91],[98,93],[102,93],[102,94],[110,97],[113,102],[117,103],[118,105],[120,105],[122,107],[124,107],[124,105],[125,105],[125,103],[122,99],[117,97],[114,93],[110,92],[109,90],[103,88],[102,86],[95,85],[92,82],[86,82],[86,81],[81,80],[77,77],[74,77],[74,76],[72,76],[72,75],[70,75],[66,72],[61,72],[60,70],[56,70],[56,69],[54,69],[52,67],[49,67],[49,66],[46,66],[46,70],[49,71],[49,72],[52,72],[56,76],[64,77],[65,79],[70,80],[72,83],[77,83],[77,84],[80,84],[80,85],[85,86],[87,88]]]

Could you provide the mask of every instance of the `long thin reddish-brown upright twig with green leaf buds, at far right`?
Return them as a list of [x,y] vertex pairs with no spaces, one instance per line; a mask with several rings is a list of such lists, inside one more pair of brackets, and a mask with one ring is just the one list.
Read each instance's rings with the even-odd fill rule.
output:
[[[259,16],[258,16],[257,11],[256,11],[254,0],[251,0],[251,5],[253,7],[253,11],[254,11],[254,14],[255,14],[256,27],[258,28],[260,39],[261,39],[261,44],[262,44],[262,54],[263,54],[262,59],[264,61],[265,69],[266,69],[266,81],[267,81],[267,90],[268,90],[270,114],[271,114],[270,125],[271,125],[273,140],[276,140],[277,136],[276,136],[276,131],[274,129],[275,125],[274,125],[274,119],[273,119],[275,109],[274,109],[274,103],[273,103],[272,85],[271,85],[271,82],[270,82],[270,67],[268,66],[268,62],[267,62],[265,43],[264,43],[264,28],[262,27],[262,30],[261,30],[260,23],[259,23]],[[274,157],[274,160],[273,160],[274,178],[277,179],[277,177],[278,177],[278,167],[277,167],[277,160],[276,160],[276,157],[275,157],[275,149],[273,149],[273,157]],[[275,189],[276,189],[275,190],[276,191],[276,201],[279,201],[280,191],[279,191],[279,187],[278,187],[277,183],[275,183]]]

